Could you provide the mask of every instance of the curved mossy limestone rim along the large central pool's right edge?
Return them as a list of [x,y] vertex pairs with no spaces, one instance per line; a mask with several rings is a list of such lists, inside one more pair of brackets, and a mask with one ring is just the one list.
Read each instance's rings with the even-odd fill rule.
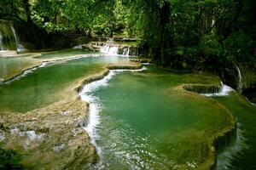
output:
[[[179,94],[189,95],[190,97],[198,99],[207,98],[199,93],[214,93],[216,92],[216,90],[218,90],[219,87],[220,86],[216,84],[183,84],[177,86],[174,90],[177,91]],[[231,144],[234,141],[234,139],[236,138],[237,131],[236,119],[232,115],[232,113],[229,110],[227,110],[224,107],[224,105],[219,104],[216,99],[207,99],[211,100],[214,103],[214,105],[218,105],[219,108],[222,108],[224,110],[224,114],[227,114],[230,123],[227,124],[226,127],[224,127],[224,129],[212,135],[212,138],[208,140],[209,153],[207,154],[207,159],[206,161],[198,164],[198,167],[196,167],[196,169],[200,170],[216,169],[218,153],[224,150],[225,146]]]

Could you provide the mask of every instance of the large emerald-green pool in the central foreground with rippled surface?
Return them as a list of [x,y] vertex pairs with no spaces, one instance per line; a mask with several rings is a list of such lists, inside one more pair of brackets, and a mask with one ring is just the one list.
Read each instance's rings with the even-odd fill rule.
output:
[[[197,82],[202,78],[194,77]],[[148,67],[96,88],[91,95],[100,108],[100,123],[93,138],[102,161],[92,168],[179,169],[205,161],[207,139],[226,117],[210,100],[175,93],[190,78]]]

